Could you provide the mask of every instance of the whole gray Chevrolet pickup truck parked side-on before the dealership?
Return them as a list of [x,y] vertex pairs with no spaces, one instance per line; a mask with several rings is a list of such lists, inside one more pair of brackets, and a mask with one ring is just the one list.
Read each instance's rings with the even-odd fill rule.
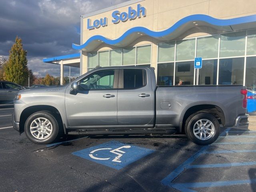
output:
[[38,144],[60,134],[166,134],[176,129],[199,145],[224,127],[248,124],[246,87],[157,86],[154,68],[95,68],[66,86],[22,90],[14,129]]

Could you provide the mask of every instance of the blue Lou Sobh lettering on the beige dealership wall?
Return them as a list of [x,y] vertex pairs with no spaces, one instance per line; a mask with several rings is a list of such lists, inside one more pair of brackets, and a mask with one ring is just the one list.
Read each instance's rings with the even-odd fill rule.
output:
[[[145,17],[146,16],[146,8],[142,7],[141,4],[137,5],[137,10],[132,9],[132,7],[128,7],[128,13],[127,12],[122,12],[116,10],[112,12],[112,23],[117,24],[120,21],[125,22],[128,19],[133,20],[136,19],[137,17],[140,18],[141,16]],[[108,18],[100,18],[96,19],[92,22],[92,20],[87,19],[87,29],[94,29],[94,28],[99,28],[100,26],[104,27],[108,25]]]

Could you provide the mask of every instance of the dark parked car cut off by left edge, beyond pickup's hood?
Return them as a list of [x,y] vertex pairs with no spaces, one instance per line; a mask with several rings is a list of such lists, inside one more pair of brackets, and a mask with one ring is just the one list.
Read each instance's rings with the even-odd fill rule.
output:
[[0,81],[0,103],[11,104],[15,95],[24,87],[8,81]]

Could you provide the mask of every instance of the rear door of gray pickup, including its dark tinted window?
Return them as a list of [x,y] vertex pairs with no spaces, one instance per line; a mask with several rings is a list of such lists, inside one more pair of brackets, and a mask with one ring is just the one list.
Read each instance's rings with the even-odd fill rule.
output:
[[[146,69],[134,67],[119,70],[118,125],[151,125],[154,108],[151,76]],[[150,73],[149,73],[150,74]]]

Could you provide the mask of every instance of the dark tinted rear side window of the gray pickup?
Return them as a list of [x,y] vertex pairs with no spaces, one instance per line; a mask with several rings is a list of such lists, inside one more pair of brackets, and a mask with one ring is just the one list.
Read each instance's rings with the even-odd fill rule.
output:
[[124,80],[119,88],[137,89],[146,85],[146,70],[144,69],[124,69]]

